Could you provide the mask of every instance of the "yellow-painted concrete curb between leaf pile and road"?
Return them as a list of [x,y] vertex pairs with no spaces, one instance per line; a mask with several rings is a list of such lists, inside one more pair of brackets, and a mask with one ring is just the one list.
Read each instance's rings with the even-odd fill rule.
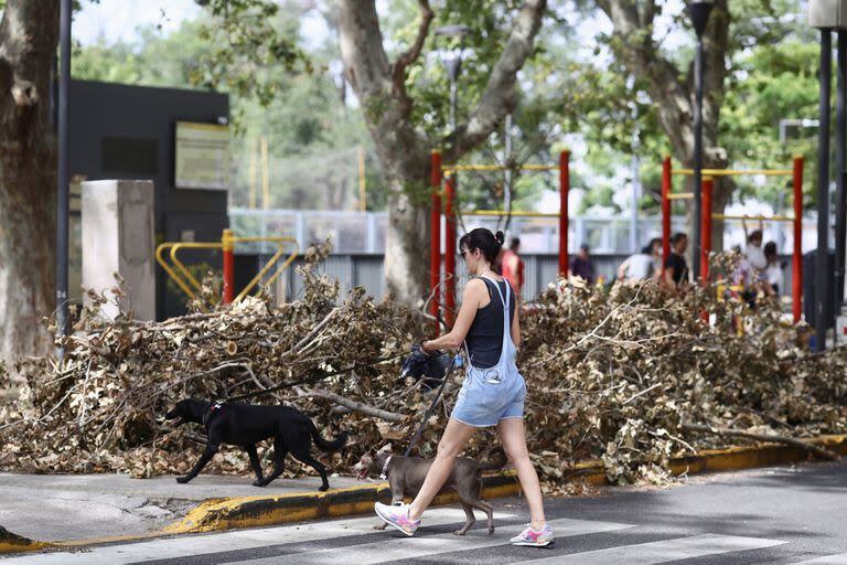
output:
[[[806,440],[839,455],[847,455],[847,435],[821,436]],[[703,450],[696,456],[673,459],[675,475],[695,475],[769,467],[780,463],[812,461],[814,457],[803,449],[782,444],[730,447]],[[583,461],[575,466],[564,479],[566,482],[585,480],[590,484],[609,484],[599,460]],[[483,477],[483,498],[495,499],[521,492],[514,471]],[[214,532],[240,527],[264,527],[328,518],[366,514],[374,502],[390,500],[388,483],[369,483],[361,487],[329,490],[326,492],[299,492],[282,495],[238,497],[210,499],[192,509],[185,518],[158,532],[143,535],[76,540],[67,542],[39,542],[18,536],[0,527],[0,554],[54,547],[79,547],[111,542],[137,541],[151,537]],[[455,493],[436,498],[435,504],[450,504],[459,500]]]

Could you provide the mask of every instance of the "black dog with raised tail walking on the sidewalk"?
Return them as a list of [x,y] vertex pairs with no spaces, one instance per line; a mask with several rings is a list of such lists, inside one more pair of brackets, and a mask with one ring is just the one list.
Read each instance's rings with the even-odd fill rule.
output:
[[[311,466],[321,475],[323,484],[319,490],[330,488],[326,469],[312,458],[311,440],[323,451],[337,451],[347,440],[342,431],[333,441],[326,441],[318,433],[312,420],[302,412],[290,406],[257,406],[253,404],[221,404],[185,398],[165,417],[175,419],[176,426],[194,422],[206,427],[206,449],[194,468],[185,477],[178,477],[176,482],[185,483],[197,476],[217,452],[221,444],[242,446],[250,456],[250,465],[256,472],[256,487],[264,487],[282,473],[283,459],[291,454],[299,461]],[[274,472],[267,478],[261,476],[256,444],[269,437],[274,438]]]

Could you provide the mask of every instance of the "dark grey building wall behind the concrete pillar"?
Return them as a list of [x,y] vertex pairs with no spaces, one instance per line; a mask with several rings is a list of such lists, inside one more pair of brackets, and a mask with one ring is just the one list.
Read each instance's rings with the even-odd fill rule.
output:
[[[225,94],[72,81],[71,174],[86,180],[150,179],[156,185],[157,244],[193,231],[197,242],[219,241],[227,226],[227,193],[173,185],[176,121],[216,124],[229,116]],[[185,263],[219,267],[216,254],[192,252]],[[184,312],[185,297],[168,290],[157,266],[157,318]],[[173,287],[173,285],[170,285]]]

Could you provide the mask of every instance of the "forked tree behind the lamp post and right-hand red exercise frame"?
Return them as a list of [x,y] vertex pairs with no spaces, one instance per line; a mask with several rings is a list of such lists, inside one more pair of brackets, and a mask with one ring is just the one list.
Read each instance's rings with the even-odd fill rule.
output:
[[[663,45],[656,30],[667,4],[661,0],[597,0],[597,6],[614,26],[609,45],[626,70],[639,78],[655,104],[658,124],[673,157],[684,167],[694,160],[694,62]],[[725,168],[730,161],[721,143],[720,114],[727,99],[727,78],[735,70],[736,55],[754,45],[781,41],[796,31],[786,13],[798,11],[795,0],[716,0],[704,33],[705,76],[703,104],[703,147],[705,168]],[[665,14],[669,15],[669,14]],[[685,14],[673,14],[674,25],[690,30]],[[691,36],[694,32],[690,31]],[[736,184],[729,178],[716,179],[712,205],[722,212]],[[690,210],[689,210],[690,214]],[[689,222],[690,225],[690,222]],[[722,223],[712,230],[712,249],[722,248]]]

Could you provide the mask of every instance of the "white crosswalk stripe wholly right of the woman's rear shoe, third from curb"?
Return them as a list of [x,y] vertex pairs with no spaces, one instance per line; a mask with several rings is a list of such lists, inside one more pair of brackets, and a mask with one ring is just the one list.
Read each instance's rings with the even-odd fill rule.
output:
[[[558,536],[558,534],[557,534]],[[661,542],[621,545],[607,550],[555,555],[542,559],[533,559],[515,565],[652,565],[676,559],[688,559],[705,555],[762,550],[781,545],[786,542],[765,540],[763,537],[740,537],[736,535],[705,534],[691,537],[663,540]]]

